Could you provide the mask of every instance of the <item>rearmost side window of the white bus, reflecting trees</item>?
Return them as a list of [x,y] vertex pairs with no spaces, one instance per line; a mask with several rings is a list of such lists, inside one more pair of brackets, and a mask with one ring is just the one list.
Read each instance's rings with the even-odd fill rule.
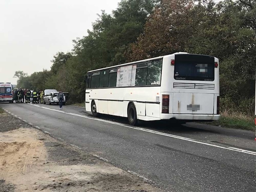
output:
[[148,62],[147,85],[160,85],[163,59]]

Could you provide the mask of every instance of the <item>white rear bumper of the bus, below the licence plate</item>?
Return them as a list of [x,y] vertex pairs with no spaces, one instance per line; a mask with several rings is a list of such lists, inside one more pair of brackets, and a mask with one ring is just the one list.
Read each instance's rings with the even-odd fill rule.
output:
[[219,120],[217,114],[160,114],[160,119],[177,119],[177,120]]

